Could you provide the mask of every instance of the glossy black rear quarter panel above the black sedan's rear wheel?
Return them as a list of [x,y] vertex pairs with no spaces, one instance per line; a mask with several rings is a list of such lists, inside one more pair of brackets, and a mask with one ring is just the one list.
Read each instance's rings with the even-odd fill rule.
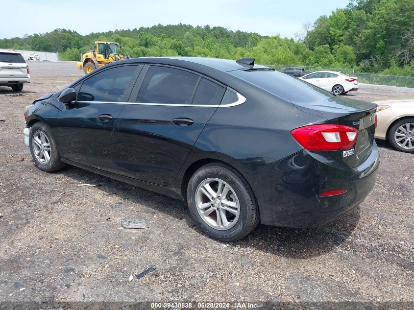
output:
[[228,163],[242,174],[252,173],[303,149],[293,139],[292,129],[326,122],[261,89],[244,89],[246,102],[219,107],[207,122],[183,170],[210,158]]

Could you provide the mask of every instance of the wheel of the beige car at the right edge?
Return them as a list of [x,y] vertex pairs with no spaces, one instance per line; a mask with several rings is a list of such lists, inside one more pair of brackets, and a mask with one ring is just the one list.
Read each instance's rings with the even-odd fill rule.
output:
[[414,153],[414,118],[396,121],[390,128],[388,141],[398,151]]

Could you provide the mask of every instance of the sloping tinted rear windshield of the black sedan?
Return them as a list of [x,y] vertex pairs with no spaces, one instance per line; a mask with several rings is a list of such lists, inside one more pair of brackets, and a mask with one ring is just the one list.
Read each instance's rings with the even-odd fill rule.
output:
[[321,88],[277,71],[237,70],[229,73],[291,102],[315,102],[334,97]]

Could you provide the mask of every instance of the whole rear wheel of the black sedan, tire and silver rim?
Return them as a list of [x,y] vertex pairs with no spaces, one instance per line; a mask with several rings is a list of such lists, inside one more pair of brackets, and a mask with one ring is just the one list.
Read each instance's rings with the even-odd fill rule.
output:
[[195,171],[187,202],[200,229],[220,241],[239,240],[259,223],[253,191],[237,170],[224,164],[208,164]]

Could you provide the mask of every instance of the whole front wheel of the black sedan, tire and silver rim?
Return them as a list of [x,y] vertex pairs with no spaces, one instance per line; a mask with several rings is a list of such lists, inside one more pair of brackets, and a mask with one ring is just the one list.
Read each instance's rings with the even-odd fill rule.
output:
[[45,123],[37,122],[31,127],[29,147],[33,160],[40,170],[53,172],[65,166],[60,160],[50,128]]

